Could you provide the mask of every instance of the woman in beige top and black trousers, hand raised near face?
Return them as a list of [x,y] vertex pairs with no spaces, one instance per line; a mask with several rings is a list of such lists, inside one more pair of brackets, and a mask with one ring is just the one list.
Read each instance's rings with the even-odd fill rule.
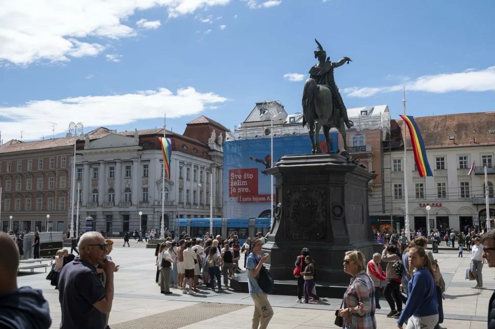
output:
[[[385,272],[387,274],[387,284],[383,290],[383,295],[390,306],[390,313],[387,314],[387,317],[400,316],[402,313],[402,298],[399,288],[402,279],[402,258],[398,254],[397,246],[386,245],[382,251],[382,261],[388,263]],[[395,308],[396,304],[397,308]]]

